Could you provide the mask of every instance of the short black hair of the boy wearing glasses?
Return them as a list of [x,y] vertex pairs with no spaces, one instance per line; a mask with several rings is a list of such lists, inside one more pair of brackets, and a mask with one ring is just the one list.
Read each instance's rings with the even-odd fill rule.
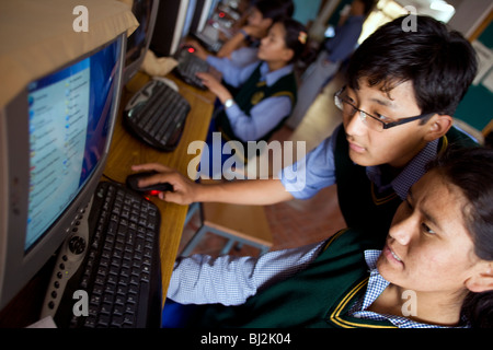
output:
[[[475,77],[475,51],[458,32],[429,16],[416,15],[416,31],[406,32],[413,15],[401,16],[370,35],[354,52],[347,83],[358,89],[358,79],[390,92],[411,81],[423,114],[454,115]],[[406,22],[404,22],[406,21]]]

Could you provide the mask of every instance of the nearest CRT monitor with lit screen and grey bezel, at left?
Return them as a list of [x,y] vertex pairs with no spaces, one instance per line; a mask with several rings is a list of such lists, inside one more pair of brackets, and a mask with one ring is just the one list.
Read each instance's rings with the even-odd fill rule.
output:
[[0,110],[0,310],[70,234],[100,182],[126,39],[31,81]]

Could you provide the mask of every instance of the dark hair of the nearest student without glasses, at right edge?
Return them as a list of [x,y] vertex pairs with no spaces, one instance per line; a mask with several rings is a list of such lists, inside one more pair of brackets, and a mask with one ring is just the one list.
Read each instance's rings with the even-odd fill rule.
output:
[[[461,189],[468,200],[462,210],[474,253],[483,260],[493,261],[493,150],[451,150],[428,166]],[[462,316],[472,327],[493,328],[493,291],[469,292],[462,304]]]

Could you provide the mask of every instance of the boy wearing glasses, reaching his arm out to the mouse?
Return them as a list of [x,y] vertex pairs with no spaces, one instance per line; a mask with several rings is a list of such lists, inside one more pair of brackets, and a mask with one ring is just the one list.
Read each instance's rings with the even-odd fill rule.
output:
[[271,205],[308,199],[337,184],[348,226],[388,230],[425,164],[448,147],[473,144],[451,128],[477,72],[473,48],[427,16],[417,16],[417,32],[404,32],[404,19],[381,26],[355,51],[346,85],[335,95],[342,126],[305,160],[284,168],[279,179],[200,185],[164,165],[142,164],[133,170],[159,173],[140,186],[170,183],[174,190],[160,198],[182,205]]

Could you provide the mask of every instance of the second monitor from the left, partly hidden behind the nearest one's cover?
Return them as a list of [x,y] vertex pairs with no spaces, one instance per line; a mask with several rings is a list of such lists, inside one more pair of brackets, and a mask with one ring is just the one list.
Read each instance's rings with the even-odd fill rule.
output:
[[[165,1],[165,0],[164,0]],[[139,26],[127,39],[123,83],[127,83],[140,69],[154,31],[159,0],[134,0],[131,12]]]

